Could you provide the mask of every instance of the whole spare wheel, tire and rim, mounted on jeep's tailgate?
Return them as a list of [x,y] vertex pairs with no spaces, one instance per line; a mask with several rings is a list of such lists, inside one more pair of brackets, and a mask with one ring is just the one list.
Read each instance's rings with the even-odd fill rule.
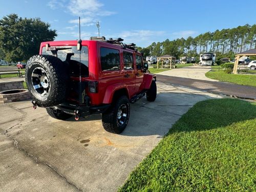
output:
[[26,66],[28,89],[39,106],[54,106],[66,99],[67,63],[52,55],[34,55]]

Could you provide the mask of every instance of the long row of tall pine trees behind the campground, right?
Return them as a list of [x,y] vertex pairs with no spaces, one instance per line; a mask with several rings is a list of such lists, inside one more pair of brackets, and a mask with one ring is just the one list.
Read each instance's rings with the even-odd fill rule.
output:
[[201,53],[214,52],[218,58],[233,58],[237,53],[256,48],[256,25],[238,26],[232,29],[216,30],[202,33],[196,37],[166,39],[163,42],[153,42],[146,48],[138,50],[148,55],[172,55],[196,57]]

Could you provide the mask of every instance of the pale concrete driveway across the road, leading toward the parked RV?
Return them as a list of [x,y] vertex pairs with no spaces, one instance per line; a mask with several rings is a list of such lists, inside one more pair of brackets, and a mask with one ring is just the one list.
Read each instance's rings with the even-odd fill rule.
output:
[[173,76],[173,77],[207,80],[207,81],[218,81],[215,79],[207,78],[205,76],[205,73],[207,73],[210,70],[211,70],[210,66],[189,66],[189,67],[177,68],[169,71],[163,71],[158,74]]

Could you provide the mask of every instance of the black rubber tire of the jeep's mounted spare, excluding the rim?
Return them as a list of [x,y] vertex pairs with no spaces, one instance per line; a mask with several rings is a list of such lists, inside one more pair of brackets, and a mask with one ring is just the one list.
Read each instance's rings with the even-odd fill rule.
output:
[[[49,76],[50,90],[47,95],[40,95],[32,84],[32,72],[35,68],[42,68]],[[68,84],[68,66],[58,57],[52,55],[32,56],[26,66],[26,82],[32,98],[39,106],[54,106],[66,99]]]

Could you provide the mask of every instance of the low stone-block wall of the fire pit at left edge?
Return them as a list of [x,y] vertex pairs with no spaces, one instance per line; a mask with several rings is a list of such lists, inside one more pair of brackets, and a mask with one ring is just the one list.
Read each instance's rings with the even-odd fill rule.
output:
[[14,89],[0,92],[0,103],[23,101],[30,98],[30,93],[26,89]]

